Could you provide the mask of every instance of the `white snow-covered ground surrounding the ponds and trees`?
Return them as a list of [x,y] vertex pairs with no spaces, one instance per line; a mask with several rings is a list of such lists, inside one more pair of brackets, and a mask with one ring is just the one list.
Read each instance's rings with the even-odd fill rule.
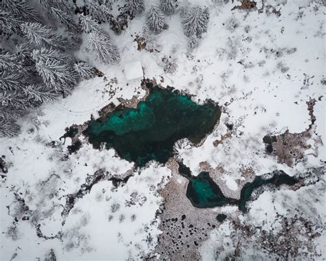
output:
[[[146,9],[156,3],[145,2]],[[315,98],[316,135],[326,142],[325,4],[265,0],[265,6],[270,3],[280,10],[278,17],[267,13],[266,8],[261,13],[231,11],[239,4],[231,1],[181,2],[181,6],[209,6],[208,32],[196,50],[188,52],[180,14],[166,17],[169,28],[152,36],[148,44],[154,47],[153,52],[137,50],[135,36],[142,36],[145,17],[135,17],[122,34],[110,32],[122,57],[119,65],[93,61],[82,47],[78,55],[89,59],[105,76],[83,81],[67,98],[31,112],[19,122],[22,132],[16,138],[0,138],[0,156],[6,156],[8,166],[0,187],[1,260],[43,260],[50,249],[58,260],[132,260],[154,251],[160,234],[160,219],[155,215],[163,202],[157,191],[164,187],[171,170],[155,163],[133,169],[133,164],[118,158],[113,149],[96,150],[87,143],[67,156],[69,144],[59,140],[65,127],[81,125],[91,114],[98,117],[98,110],[112,97],[144,96],[140,80],[127,81],[123,72],[127,63],[140,61],[146,78],[157,82],[164,79],[163,86],[192,94],[199,103],[210,98],[224,109],[219,126],[201,146],[179,149],[178,156],[193,174],[199,173],[202,162],[214,169],[220,167],[226,187],[236,191],[246,180],[242,170],[249,167],[255,175],[274,169],[295,175],[325,165],[322,144],[316,145],[317,155],[307,152],[305,160],[289,167],[265,154],[262,141],[266,134],[278,135],[286,129],[304,132],[311,123],[306,103]],[[261,3],[257,7],[261,8]],[[111,81],[114,78],[117,82]],[[215,147],[213,142],[227,133],[225,123],[235,126],[233,134]],[[49,144],[52,140],[56,141],[54,146]],[[107,171],[109,177],[123,176],[129,170],[134,175],[118,187],[108,180],[97,182],[66,217],[62,215],[67,195],[77,193],[87,176],[98,170]],[[320,180],[297,191],[266,191],[239,219],[250,220],[243,222],[252,226],[264,223],[268,230],[277,227],[276,212],[285,215],[296,208],[310,222],[325,225],[321,204],[325,191],[320,189],[324,185],[323,178]],[[314,186],[318,193],[313,193]],[[310,212],[301,211],[307,205]],[[202,258],[213,259],[214,251],[231,240],[228,236],[235,233],[234,229],[228,220],[212,231],[211,239],[201,248]],[[324,231],[313,240],[319,260],[326,258],[325,240]],[[248,243],[248,247],[252,245]],[[228,255],[231,250],[219,251]]]

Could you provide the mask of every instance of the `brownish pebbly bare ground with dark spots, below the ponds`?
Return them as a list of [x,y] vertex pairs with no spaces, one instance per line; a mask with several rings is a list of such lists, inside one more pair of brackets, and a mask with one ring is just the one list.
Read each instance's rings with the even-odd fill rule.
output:
[[175,159],[166,163],[172,171],[171,179],[164,189],[159,191],[164,198],[155,253],[160,260],[198,260],[199,247],[207,240],[212,229],[219,226],[217,215],[211,209],[197,209],[186,198],[188,180],[178,173]]

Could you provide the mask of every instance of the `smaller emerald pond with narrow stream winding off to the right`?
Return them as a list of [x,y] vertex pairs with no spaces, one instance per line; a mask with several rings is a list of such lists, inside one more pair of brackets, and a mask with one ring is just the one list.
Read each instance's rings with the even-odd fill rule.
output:
[[[226,198],[219,186],[210,178],[208,172],[201,172],[198,176],[191,175],[191,170],[184,164],[179,163],[179,173],[189,180],[186,197],[194,207],[208,208],[221,207],[225,205],[237,205],[243,212],[247,211],[246,202],[255,189],[263,185],[294,185],[298,180],[288,176],[283,171],[273,171],[271,178],[257,176],[252,182],[247,182],[241,189],[240,199]],[[223,221],[226,217],[219,217]]]

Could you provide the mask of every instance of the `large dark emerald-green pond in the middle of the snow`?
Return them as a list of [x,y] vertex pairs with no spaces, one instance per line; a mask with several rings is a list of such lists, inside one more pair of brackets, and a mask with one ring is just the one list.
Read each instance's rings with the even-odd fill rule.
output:
[[199,143],[213,128],[221,111],[208,102],[199,105],[189,96],[146,83],[149,96],[137,108],[111,112],[104,120],[90,121],[83,132],[95,148],[101,143],[116,149],[121,158],[143,166],[150,160],[166,163],[181,138]]

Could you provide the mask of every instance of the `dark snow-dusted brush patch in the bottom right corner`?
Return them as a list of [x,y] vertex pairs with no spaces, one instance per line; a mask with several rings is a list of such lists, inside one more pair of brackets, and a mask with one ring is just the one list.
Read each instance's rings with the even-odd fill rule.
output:
[[[229,237],[232,239],[235,249],[226,260],[242,260],[241,254],[246,253],[248,247],[252,249],[252,246],[248,246],[248,242],[254,242],[254,248],[265,252],[264,257],[260,257],[258,260],[267,257],[267,259],[271,258],[272,260],[293,260],[296,258],[313,260],[312,257],[318,257],[314,238],[321,235],[323,226],[301,217],[301,213],[296,213],[293,217],[277,213],[275,222],[281,225],[281,229],[278,231],[273,228],[268,230],[246,225],[239,219],[232,220]],[[305,246],[304,249],[303,246]],[[219,259],[219,251],[223,250],[217,250],[217,260]]]

